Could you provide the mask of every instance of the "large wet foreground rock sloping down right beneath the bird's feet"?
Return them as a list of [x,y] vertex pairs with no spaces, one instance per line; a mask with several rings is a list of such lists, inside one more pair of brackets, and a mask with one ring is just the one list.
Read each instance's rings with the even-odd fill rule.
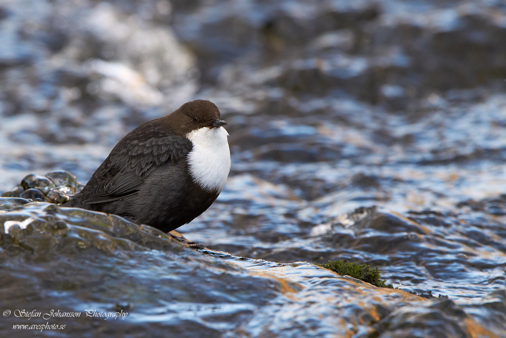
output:
[[[26,290],[36,290],[28,300],[41,313],[55,307],[82,312],[65,317],[71,334],[135,329],[156,335],[163,329],[183,337],[238,331],[248,336],[270,332],[330,337],[350,330],[401,330],[405,335],[437,330],[439,336],[451,337],[471,332],[464,325],[471,320],[469,313],[480,309],[492,315],[504,303],[502,292],[491,294],[487,306],[468,302],[462,308],[451,300],[424,301],[401,290],[373,287],[308,262],[279,264],[209,249],[194,251],[154,228],[118,216],[48,203],[2,213],[0,224],[2,302],[17,301],[23,307]],[[111,292],[117,288],[121,294]],[[90,294],[93,310],[124,316],[83,316],[80,307],[89,302]],[[192,316],[181,318],[186,311]],[[286,313],[293,316],[281,320]],[[20,319],[8,316],[5,321],[11,327]],[[473,328],[486,330],[482,322],[474,322]],[[0,327],[0,334],[6,330]]]

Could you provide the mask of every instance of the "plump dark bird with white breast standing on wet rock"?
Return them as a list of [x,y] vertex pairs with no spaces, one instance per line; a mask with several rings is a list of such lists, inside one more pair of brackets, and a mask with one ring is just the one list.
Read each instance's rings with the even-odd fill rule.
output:
[[226,124],[213,102],[195,100],[137,127],[64,206],[113,213],[164,232],[188,223],[227,180]]

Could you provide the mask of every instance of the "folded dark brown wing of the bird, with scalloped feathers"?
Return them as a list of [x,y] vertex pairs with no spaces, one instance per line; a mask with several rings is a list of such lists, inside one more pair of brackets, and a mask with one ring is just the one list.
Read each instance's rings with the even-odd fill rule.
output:
[[[96,204],[133,195],[154,169],[175,165],[192,149],[189,139],[170,135],[138,140],[125,137],[93,174],[83,189],[83,204]],[[90,184],[92,183],[92,184]]]

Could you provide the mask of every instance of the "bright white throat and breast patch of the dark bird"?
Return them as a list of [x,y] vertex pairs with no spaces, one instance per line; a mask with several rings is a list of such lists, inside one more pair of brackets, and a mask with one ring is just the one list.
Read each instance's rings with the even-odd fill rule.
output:
[[193,148],[188,154],[190,173],[204,189],[221,192],[230,172],[230,149],[225,128],[200,128],[186,134]]

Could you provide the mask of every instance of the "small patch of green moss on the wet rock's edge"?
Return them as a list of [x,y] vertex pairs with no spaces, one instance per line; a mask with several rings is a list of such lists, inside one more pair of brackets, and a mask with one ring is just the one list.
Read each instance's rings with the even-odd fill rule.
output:
[[329,260],[327,264],[317,265],[332,270],[342,276],[348,275],[378,287],[393,288],[392,284],[387,284],[386,280],[381,279],[381,275],[379,274],[379,269],[377,267],[371,269],[371,267],[367,264],[357,264],[346,260]]

